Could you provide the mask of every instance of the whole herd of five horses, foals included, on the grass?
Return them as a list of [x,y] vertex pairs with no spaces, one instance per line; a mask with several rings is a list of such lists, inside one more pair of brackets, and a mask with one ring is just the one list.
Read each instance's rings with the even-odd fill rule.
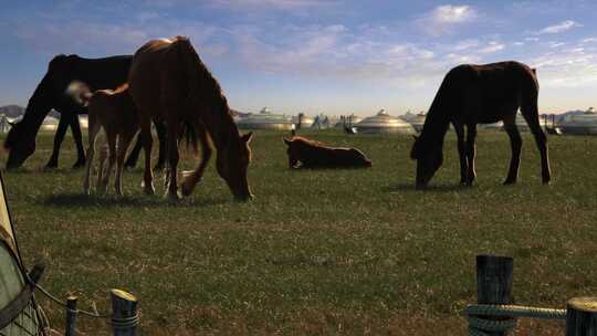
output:
[[[537,97],[536,71],[525,64],[511,61],[452,69],[443,78],[410,153],[417,161],[416,187],[425,188],[441,167],[443,139],[450,124],[458,136],[460,182],[472,185],[475,178],[476,125],[499,120],[503,120],[512,147],[504,183],[514,183],[522,146],[515,124],[519,109],[535,137],[543,182],[548,183],[549,160],[546,136],[540,126]],[[252,133],[239,133],[218,81],[188,38],[149,41],[133,56],[95,60],[77,55],[55,56],[30,98],[22,120],[13,125],[7,136],[8,169],[19,168],[34,153],[35,136],[52,108],[61,113],[61,119],[46,166],[57,166],[60,145],[70,125],[78,153],[74,166],[82,167],[86,162],[86,193],[91,192],[95,140],[101,129],[106,133],[107,149],[100,153],[97,190],[107,190],[109,176],[116,166],[115,189],[122,195],[123,168],[135,166],[139,151],[144,149],[143,186],[146,193],[155,193],[150,166],[154,124],[159,139],[155,169],[167,165],[169,198],[178,199],[180,193],[188,196],[192,192],[205,174],[213,148],[217,171],[232,195],[239,200],[252,198],[247,180]],[[84,113],[88,113],[90,120],[87,159],[77,119],[77,115]],[[137,143],[125,161],[129,143],[137,133]],[[196,151],[200,147],[201,157],[192,171],[182,174],[179,185],[178,146],[184,137]],[[284,143],[291,168],[371,167],[371,161],[355,148],[327,147],[302,137],[284,139]]]

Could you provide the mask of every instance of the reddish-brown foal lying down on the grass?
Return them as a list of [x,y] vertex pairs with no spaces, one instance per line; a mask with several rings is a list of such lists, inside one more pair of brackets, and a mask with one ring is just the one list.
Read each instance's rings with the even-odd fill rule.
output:
[[355,148],[327,147],[303,137],[284,139],[284,143],[289,146],[290,168],[297,167],[298,162],[305,168],[371,167],[371,161]]

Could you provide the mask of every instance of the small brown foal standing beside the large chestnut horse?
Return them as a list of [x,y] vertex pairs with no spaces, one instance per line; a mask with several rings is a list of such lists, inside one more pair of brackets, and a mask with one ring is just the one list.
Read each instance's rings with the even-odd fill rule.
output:
[[83,181],[83,190],[90,193],[90,176],[95,155],[95,140],[100,130],[104,129],[107,140],[107,165],[104,166],[105,157],[100,159],[100,169],[97,176],[97,191],[107,192],[109,176],[116,164],[116,178],[114,189],[116,195],[123,195],[123,168],[126,150],[139,129],[135,104],[128,93],[128,84],[121,85],[118,88],[98,90],[91,93],[90,88],[81,83],[78,87],[81,101],[88,107],[88,137],[90,147],[87,149],[86,174]]

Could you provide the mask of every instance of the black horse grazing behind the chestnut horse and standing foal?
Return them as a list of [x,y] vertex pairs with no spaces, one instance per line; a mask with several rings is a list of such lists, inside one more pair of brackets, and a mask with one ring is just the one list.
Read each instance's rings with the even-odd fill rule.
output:
[[[52,108],[61,114],[59,128],[54,137],[54,148],[52,156],[46,164],[48,168],[57,167],[60,146],[64,139],[64,134],[69,125],[73,130],[73,137],[77,149],[77,160],[74,168],[85,165],[85,153],[78,115],[87,114],[87,108],[83,107],[73,97],[66,94],[69,85],[73,81],[85,83],[91,91],[101,88],[115,88],[127,82],[128,70],[133,56],[122,55],[105,59],[83,59],[77,55],[57,55],[48,66],[48,72],[29,99],[23,119],[15,123],[7,135],[4,148],[10,150],[7,169],[19,168],[29,156],[35,151],[35,136],[43,123],[43,119]],[[156,123],[156,130],[159,138],[159,158],[157,168],[161,168],[165,162],[165,127],[161,123]],[[140,149],[140,139],[137,146]],[[135,166],[139,150],[133,150],[127,166]]]

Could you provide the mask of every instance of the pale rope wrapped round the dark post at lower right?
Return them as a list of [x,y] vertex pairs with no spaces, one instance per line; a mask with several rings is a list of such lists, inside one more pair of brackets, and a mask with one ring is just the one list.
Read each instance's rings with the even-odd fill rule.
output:
[[[516,327],[516,317],[565,319],[566,309],[538,308],[516,305],[469,305],[464,308],[469,319],[469,336],[489,336],[488,332],[510,332]],[[493,321],[471,315],[510,317]]]

